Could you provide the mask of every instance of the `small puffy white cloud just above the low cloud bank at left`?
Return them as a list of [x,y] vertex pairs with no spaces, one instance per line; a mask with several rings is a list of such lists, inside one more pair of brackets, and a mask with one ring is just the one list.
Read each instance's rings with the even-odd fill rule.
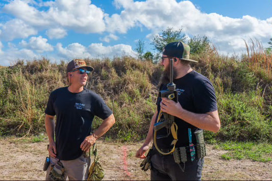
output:
[[19,44],[28,49],[36,50],[38,53],[43,53],[44,51],[53,51],[54,48],[49,43],[46,43],[47,39],[38,37],[31,37],[29,42],[22,40]]

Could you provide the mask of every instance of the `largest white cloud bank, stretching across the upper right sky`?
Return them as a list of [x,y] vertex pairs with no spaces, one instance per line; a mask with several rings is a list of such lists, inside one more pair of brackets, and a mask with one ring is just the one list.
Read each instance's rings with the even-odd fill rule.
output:
[[243,39],[268,41],[272,37],[272,17],[260,20],[249,15],[230,18],[216,13],[207,14],[190,1],[115,0],[114,5],[123,10],[120,14],[106,16],[107,30],[111,33],[127,33],[131,28],[143,25],[152,31],[150,35],[154,35],[167,27],[176,30],[182,27],[190,36],[208,36],[220,49],[229,53],[245,48]]

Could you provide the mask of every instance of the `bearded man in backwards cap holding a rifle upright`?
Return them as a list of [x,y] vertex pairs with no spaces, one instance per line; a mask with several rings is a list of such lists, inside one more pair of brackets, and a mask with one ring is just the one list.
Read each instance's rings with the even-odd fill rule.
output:
[[[153,144],[153,151],[149,154],[151,180],[200,180],[206,151],[204,138],[200,139],[199,145],[202,147],[196,146],[196,140],[203,130],[216,133],[220,128],[214,88],[207,77],[191,68],[190,62],[197,61],[189,59],[189,52],[190,47],[182,41],[171,42],[163,49],[161,65],[164,72],[160,91],[167,89],[172,61],[178,101],[158,97],[157,111],[151,120],[149,132],[136,152],[137,158],[144,159],[150,143],[156,141],[157,146]],[[160,121],[161,112],[174,116],[173,125],[176,127],[173,130],[171,127],[170,133],[163,127],[155,135],[154,124]]]

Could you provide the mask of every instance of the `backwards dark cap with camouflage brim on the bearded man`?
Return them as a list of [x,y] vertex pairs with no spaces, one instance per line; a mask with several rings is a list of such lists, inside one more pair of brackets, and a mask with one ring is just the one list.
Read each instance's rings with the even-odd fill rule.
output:
[[183,43],[182,41],[176,41],[168,43],[163,48],[163,55],[167,55],[169,57],[177,57],[181,60],[187,60],[191,62],[197,62],[195,60],[189,59],[190,55],[190,46]]

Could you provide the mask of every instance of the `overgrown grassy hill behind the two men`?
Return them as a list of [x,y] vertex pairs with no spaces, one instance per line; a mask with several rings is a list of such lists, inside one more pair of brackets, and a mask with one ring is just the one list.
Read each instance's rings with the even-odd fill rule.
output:
[[[218,101],[221,130],[205,132],[205,137],[209,141],[272,142],[272,56],[248,51],[238,59],[210,51],[191,58],[199,61],[192,64],[193,69],[213,83]],[[126,56],[86,61],[94,67],[87,88],[105,99],[116,118],[106,138],[144,139],[156,110],[162,67]],[[45,132],[48,95],[67,85],[66,66],[41,59],[17,61],[0,69],[1,136]],[[93,127],[100,123],[95,118]]]

